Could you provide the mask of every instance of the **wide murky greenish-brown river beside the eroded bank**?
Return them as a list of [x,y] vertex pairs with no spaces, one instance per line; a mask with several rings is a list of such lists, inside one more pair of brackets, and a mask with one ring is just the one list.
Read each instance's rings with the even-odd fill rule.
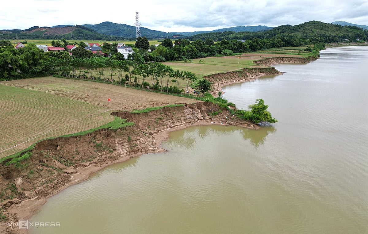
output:
[[53,196],[30,233],[368,233],[368,46],[321,51],[283,75],[228,85],[261,130],[189,127],[167,153],[117,163]]

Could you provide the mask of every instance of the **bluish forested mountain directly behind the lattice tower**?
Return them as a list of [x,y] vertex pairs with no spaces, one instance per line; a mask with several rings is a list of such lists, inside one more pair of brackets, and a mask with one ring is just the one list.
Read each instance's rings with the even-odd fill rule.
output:
[[[113,22],[102,22],[100,24],[84,24],[87,28],[93,29],[96,32],[105,34],[105,35],[113,35],[113,36],[121,36],[126,38],[135,38],[137,35],[137,31],[135,26],[130,26],[127,24],[116,24]],[[141,27],[141,35],[146,38],[177,38],[179,37],[176,33],[167,33],[156,30],[151,30],[148,28]]]

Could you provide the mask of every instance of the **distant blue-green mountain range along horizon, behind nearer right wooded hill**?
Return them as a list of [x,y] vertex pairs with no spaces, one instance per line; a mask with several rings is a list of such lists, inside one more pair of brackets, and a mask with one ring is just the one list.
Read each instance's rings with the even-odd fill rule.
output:
[[[311,21],[312,22],[312,21]],[[324,23],[325,24],[325,23]],[[366,25],[351,24],[344,21],[335,21],[331,24],[350,25],[357,26],[358,28],[368,29]],[[303,24],[304,25],[304,24]],[[271,33],[271,31],[279,31],[279,28],[293,27],[291,25],[279,26],[277,28],[268,26],[236,26],[231,28],[216,29],[213,31],[197,31],[197,32],[161,32],[141,27],[141,35],[148,39],[177,39],[187,38],[190,40],[204,39],[212,37],[214,40],[221,40],[221,37],[228,37],[232,33],[234,34],[232,39],[247,39],[252,37],[254,32]],[[295,28],[300,26],[295,26]],[[276,32],[275,31],[275,32]],[[227,33],[222,33],[227,32]],[[220,33],[220,34],[219,34]],[[278,32],[282,33],[282,32]],[[291,32],[289,32],[291,33]],[[219,34],[219,35],[217,35]],[[226,34],[226,35],[225,35]],[[243,35],[244,34],[244,35]],[[84,24],[84,25],[56,25],[52,27],[39,27],[34,26],[29,29],[11,29],[0,30],[0,39],[7,40],[20,40],[20,39],[66,39],[66,40],[126,40],[135,39],[136,28],[127,24],[116,24],[113,22],[102,22],[100,24]]]

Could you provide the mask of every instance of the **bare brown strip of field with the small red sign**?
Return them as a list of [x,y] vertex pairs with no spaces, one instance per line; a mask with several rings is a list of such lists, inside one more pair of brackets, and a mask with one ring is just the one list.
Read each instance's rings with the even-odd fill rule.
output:
[[[195,102],[185,97],[141,91],[124,86],[55,77],[3,81],[0,84],[69,97],[110,110],[139,110],[168,104]],[[107,102],[107,99],[111,101]]]

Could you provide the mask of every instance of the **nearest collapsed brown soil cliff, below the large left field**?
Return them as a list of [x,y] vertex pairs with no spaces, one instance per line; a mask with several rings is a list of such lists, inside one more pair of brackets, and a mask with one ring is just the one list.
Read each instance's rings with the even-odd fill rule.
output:
[[112,114],[135,124],[116,131],[101,129],[82,136],[47,139],[36,143],[32,156],[20,164],[0,164],[0,231],[22,233],[7,223],[28,218],[47,197],[84,180],[91,172],[144,153],[164,152],[158,135],[167,129],[196,123],[259,128],[209,102],[139,114],[126,111]]

